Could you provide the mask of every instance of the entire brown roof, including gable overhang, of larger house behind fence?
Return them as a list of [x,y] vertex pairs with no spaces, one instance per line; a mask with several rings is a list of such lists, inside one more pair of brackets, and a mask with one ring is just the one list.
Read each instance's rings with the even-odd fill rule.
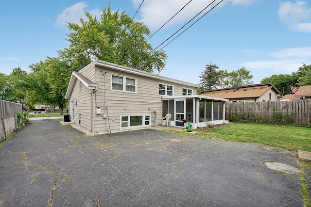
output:
[[231,88],[222,88],[222,89],[214,89],[203,91],[203,96],[213,96],[219,98],[253,98],[260,97],[269,89],[273,89],[277,94],[280,92],[276,89],[274,85],[271,83],[259,83],[254,85],[244,85]]

